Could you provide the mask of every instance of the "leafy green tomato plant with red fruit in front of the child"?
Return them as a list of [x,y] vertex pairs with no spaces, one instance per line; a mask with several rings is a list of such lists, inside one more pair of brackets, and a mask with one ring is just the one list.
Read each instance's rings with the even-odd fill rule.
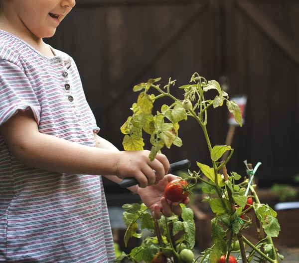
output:
[[[242,126],[238,104],[229,99],[228,93],[222,90],[217,81],[207,81],[198,73],[192,75],[190,83],[178,87],[183,91],[181,98],[171,92],[176,81],[169,79],[163,87],[161,83],[157,84],[159,81],[160,78],[150,79],[147,83],[140,83],[133,88],[140,94],[131,108],[133,115],[129,116],[121,127],[121,132],[125,135],[124,149],[143,150],[143,135],[147,133],[150,135],[151,144],[149,159],[153,161],[163,147],[181,147],[180,123],[190,118],[196,120],[207,142],[209,164],[197,162],[196,171],[188,170],[184,174],[184,180],[179,179],[174,184],[171,182],[167,185],[165,196],[169,200],[181,201],[189,193],[192,194],[192,187],[199,183],[206,185],[202,187],[202,191],[206,193],[202,202],[208,202],[215,214],[211,220],[211,237],[214,244],[201,252],[196,259],[191,255],[195,245],[195,223],[192,209],[183,204],[180,204],[183,210],[181,218],[173,214],[170,218],[162,216],[160,220],[154,220],[144,204],[126,204],[123,206],[124,221],[128,228],[124,238],[125,244],[127,245],[131,237],[142,238],[142,233],[138,233],[139,229],[147,228],[155,235],[144,238],[141,246],[134,248],[128,255],[123,253],[118,261],[128,258],[134,263],[142,260],[150,263],[155,255],[162,251],[173,263],[191,263],[191,256],[194,263],[224,263],[226,256],[229,257],[229,263],[236,263],[237,260],[242,260],[243,263],[260,263],[265,260],[278,263],[279,258],[283,259],[283,256],[278,253],[273,242],[273,238],[278,237],[280,232],[277,213],[268,204],[261,203],[255,191],[254,175],[261,163],[253,169],[244,161],[246,175],[243,176],[244,180],[240,180],[241,175],[226,169],[234,149],[229,145],[213,146],[208,134],[207,116],[211,108],[225,105],[233,114],[236,123]],[[158,94],[150,93],[152,89]],[[206,99],[206,93],[210,90],[217,94],[214,99]],[[172,99],[172,102],[154,109],[154,102],[163,97]],[[192,136],[191,131],[188,136]],[[196,136],[198,135],[194,138]],[[228,157],[220,161],[227,151]],[[254,210],[253,215],[245,216],[247,209]],[[259,225],[259,240],[256,243],[250,242],[242,234],[243,229],[251,227],[253,217]],[[237,243],[245,243],[246,247],[238,246]],[[245,251],[246,248],[249,250]],[[230,255],[232,251],[239,252],[237,259]]]

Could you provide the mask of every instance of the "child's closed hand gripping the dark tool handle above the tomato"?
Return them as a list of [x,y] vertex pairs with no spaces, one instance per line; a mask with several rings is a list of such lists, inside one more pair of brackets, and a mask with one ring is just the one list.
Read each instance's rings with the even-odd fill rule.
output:
[[170,165],[163,154],[157,154],[150,162],[149,151],[144,150],[119,152],[116,167],[119,178],[135,177],[139,181],[139,186],[145,188],[163,179]]

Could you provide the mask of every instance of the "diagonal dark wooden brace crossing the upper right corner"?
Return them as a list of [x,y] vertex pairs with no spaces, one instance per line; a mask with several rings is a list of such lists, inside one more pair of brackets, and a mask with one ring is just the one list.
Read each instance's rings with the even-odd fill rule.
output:
[[275,26],[262,12],[248,1],[236,1],[237,7],[251,19],[254,25],[264,32],[290,59],[299,65],[299,48]]

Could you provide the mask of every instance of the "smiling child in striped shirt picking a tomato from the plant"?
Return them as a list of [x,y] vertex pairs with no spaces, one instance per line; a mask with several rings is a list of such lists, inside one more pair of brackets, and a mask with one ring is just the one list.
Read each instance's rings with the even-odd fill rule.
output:
[[167,158],[98,136],[74,61],[43,42],[74,5],[0,0],[0,262],[113,262],[100,175],[135,177],[157,219],[181,214],[163,197]]

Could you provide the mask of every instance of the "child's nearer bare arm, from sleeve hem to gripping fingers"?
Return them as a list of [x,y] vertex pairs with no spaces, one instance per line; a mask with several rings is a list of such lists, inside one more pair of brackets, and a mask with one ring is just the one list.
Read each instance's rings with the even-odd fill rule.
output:
[[[42,134],[31,110],[18,111],[0,126],[10,152],[21,163],[52,172],[135,177],[141,187],[152,185],[168,171],[169,162],[159,155],[150,162],[148,151],[116,152],[88,147]],[[156,174],[152,170],[156,171]]]

